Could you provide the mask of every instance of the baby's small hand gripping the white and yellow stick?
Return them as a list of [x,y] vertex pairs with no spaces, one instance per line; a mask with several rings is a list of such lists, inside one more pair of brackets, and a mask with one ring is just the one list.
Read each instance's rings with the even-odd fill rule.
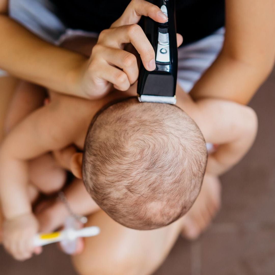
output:
[[32,213],[5,220],[3,224],[3,244],[16,260],[27,260],[32,253],[40,254],[41,248],[34,248],[33,238],[38,232],[38,222]]

